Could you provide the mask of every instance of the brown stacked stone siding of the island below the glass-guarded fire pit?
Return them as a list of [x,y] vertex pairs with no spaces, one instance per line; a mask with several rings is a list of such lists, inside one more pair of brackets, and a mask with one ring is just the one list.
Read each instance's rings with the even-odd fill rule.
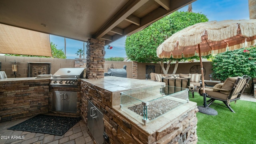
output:
[[155,132],[149,134],[127,117],[112,108],[112,93],[88,82],[81,81],[81,116],[87,124],[88,100],[104,114],[104,130],[110,144],[196,144],[196,105],[180,114]]

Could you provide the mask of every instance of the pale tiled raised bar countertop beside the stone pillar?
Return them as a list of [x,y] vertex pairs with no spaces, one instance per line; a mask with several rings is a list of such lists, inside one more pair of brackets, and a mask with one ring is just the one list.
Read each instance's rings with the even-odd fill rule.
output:
[[164,82],[154,82],[150,80],[139,80],[133,78],[122,78],[116,76],[105,76],[104,78],[98,79],[81,79],[85,82],[108,90],[110,92],[118,92],[130,90],[133,88],[143,88],[148,86],[159,86],[165,85]]

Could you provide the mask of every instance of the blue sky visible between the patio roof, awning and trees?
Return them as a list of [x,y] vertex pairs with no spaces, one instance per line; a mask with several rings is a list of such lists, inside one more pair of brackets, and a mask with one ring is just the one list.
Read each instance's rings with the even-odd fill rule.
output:
[[[185,6],[179,11],[187,11],[188,6]],[[192,12],[205,14],[209,21],[212,20],[248,20],[249,8],[248,0],[196,0],[192,3]],[[105,46],[105,58],[123,57],[126,58],[125,52],[126,37],[120,38],[115,42],[110,43],[113,48],[107,49]],[[50,35],[50,41],[57,45],[58,49],[64,51],[64,38],[60,36]],[[87,40],[86,40],[87,41]],[[66,38],[66,56],[67,59],[79,58],[75,53],[80,48],[84,48],[84,42]],[[86,51],[86,43],[85,43]],[[83,56],[82,56],[83,58]],[[84,56],[86,58],[86,55]]]

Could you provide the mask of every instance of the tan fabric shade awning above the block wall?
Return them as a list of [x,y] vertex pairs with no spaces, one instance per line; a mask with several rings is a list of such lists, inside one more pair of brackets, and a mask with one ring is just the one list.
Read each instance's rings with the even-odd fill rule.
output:
[[52,57],[50,36],[0,24],[0,53]]

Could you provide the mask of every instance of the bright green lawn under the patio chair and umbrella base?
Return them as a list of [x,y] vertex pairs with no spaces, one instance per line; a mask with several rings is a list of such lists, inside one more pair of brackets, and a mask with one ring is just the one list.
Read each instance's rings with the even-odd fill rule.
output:
[[[189,100],[203,106],[203,96],[195,92],[194,97],[190,94]],[[198,144],[256,144],[256,102],[231,102],[236,113],[219,104],[224,105],[215,100],[210,106],[217,110],[217,116],[196,114]]]

